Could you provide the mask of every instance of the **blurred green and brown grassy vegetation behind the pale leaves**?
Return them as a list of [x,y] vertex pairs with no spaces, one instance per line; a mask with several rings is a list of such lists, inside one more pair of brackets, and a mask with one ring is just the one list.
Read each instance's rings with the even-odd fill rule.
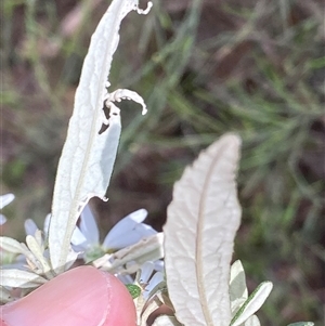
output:
[[[105,0],[1,2],[1,233],[24,239],[51,209],[61,149],[90,36]],[[142,6],[146,4],[143,3]],[[172,184],[222,133],[244,141],[243,223],[235,258],[251,288],[274,290],[262,325],[314,321],[325,302],[325,56],[322,0],[165,0],[122,24],[110,90],[123,131],[108,203],[92,201],[103,234],[144,207],[157,230]]]

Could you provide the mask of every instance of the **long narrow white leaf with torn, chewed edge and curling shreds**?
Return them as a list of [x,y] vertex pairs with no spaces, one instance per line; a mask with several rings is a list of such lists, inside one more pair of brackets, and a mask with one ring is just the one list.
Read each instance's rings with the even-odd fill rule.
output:
[[[91,38],[84,58],[52,203],[49,248],[56,273],[63,272],[67,262],[76,259],[69,248],[76,221],[91,197],[104,199],[112,175],[120,136],[120,115],[119,109],[108,103],[110,117],[107,121],[103,112],[104,100],[120,101],[122,96],[144,105],[134,92],[121,90],[107,94],[105,89],[121,21],[132,10],[146,13],[138,9],[138,0],[112,2]],[[103,123],[109,126],[100,134]]]

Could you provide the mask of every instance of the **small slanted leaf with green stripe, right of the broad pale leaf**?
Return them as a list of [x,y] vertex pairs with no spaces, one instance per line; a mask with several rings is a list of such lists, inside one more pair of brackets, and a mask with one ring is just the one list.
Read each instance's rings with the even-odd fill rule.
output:
[[271,282],[261,283],[248,297],[231,322],[231,326],[239,326],[253,315],[264,303],[272,290]]

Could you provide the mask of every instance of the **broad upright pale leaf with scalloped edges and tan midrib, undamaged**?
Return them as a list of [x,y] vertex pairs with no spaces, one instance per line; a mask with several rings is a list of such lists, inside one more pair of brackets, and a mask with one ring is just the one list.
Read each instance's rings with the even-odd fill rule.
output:
[[240,140],[223,135],[173,188],[165,233],[167,285],[185,326],[229,326],[230,262],[240,222],[236,171]]

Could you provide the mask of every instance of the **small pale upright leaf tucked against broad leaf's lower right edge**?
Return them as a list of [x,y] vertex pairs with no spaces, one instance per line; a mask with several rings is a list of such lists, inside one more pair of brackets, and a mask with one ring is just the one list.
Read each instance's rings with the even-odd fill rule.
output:
[[247,298],[248,290],[246,287],[245,271],[242,262],[236,260],[231,266],[230,278],[230,299],[233,315],[238,311]]

